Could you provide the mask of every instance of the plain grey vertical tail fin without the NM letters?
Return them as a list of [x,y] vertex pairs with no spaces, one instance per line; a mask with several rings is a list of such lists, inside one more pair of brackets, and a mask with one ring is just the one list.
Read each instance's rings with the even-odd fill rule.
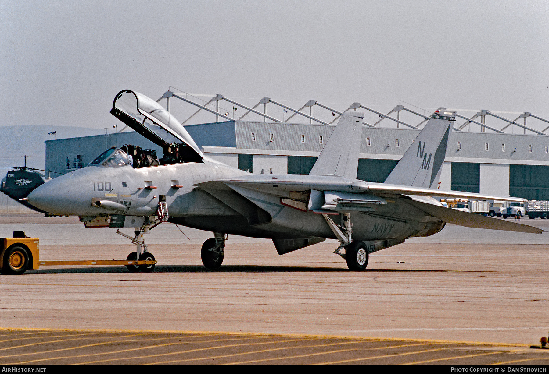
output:
[[341,116],[310,175],[340,175],[356,179],[363,118],[363,113],[350,110]]

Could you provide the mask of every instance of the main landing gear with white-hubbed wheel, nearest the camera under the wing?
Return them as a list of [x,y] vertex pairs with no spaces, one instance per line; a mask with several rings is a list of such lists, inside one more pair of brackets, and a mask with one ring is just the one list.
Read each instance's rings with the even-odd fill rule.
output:
[[[347,262],[347,267],[352,271],[365,270],[368,265],[368,249],[364,242],[352,241],[352,223],[351,213],[340,213],[343,218],[343,226],[333,222],[328,214],[322,214],[330,229],[339,240],[339,247],[334,251],[335,254],[343,257]],[[341,253],[345,250],[345,253]]]

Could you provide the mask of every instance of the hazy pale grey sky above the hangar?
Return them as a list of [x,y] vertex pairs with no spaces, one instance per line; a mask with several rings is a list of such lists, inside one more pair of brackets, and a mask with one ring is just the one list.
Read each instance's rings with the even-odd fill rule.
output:
[[548,4],[4,0],[0,126],[108,127],[121,89],[170,85],[247,104],[549,114]]

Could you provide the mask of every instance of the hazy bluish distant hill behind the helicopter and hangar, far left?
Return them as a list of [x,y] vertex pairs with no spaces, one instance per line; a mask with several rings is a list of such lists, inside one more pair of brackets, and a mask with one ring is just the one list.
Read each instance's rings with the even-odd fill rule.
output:
[[[44,141],[54,139],[49,132],[55,131],[55,139],[87,137],[103,134],[103,129],[73,126],[48,126],[31,124],[26,126],[0,126],[0,167],[27,166],[43,169],[46,165],[46,145]],[[0,174],[4,174],[0,172]]]

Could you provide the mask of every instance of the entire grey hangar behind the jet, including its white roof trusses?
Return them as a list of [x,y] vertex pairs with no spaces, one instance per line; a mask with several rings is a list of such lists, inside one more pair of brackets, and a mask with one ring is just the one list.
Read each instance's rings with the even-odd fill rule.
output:
[[[433,112],[402,101],[387,114],[360,103],[339,111],[316,100],[294,109],[263,98],[250,107],[221,94],[206,102],[173,87],[157,101],[161,100],[180,120],[187,117],[181,123],[205,155],[252,173],[309,173],[343,112],[364,111],[357,178],[369,182],[385,180]],[[221,107],[227,103],[232,110]],[[173,113],[177,105],[180,110],[185,107],[183,112]],[[256,109],[261,105],[262,112]],[[237,116],[238,109],[244,114]],[[549,133],[545,132],[549,120],[530,112],[518,113],[514,120],[505,117],[514,117],[517,113],[513,112],[480,110],[468,116],[463,112],[468,111],[457,110],[440,188],[549,200]],[[215,122],[204,119],[212,115]],[[248,115],[259,120],[244,120]],[[418,118],[421,122],[412,124]],[[300,123],[300,119],[309,123]],[[86,166],[110,146],[124,144],[162,154],[158,146],[135,132],[123,128],[108,134],[105,129],[105,135],[46,141],[46,169],[66,173]]]

